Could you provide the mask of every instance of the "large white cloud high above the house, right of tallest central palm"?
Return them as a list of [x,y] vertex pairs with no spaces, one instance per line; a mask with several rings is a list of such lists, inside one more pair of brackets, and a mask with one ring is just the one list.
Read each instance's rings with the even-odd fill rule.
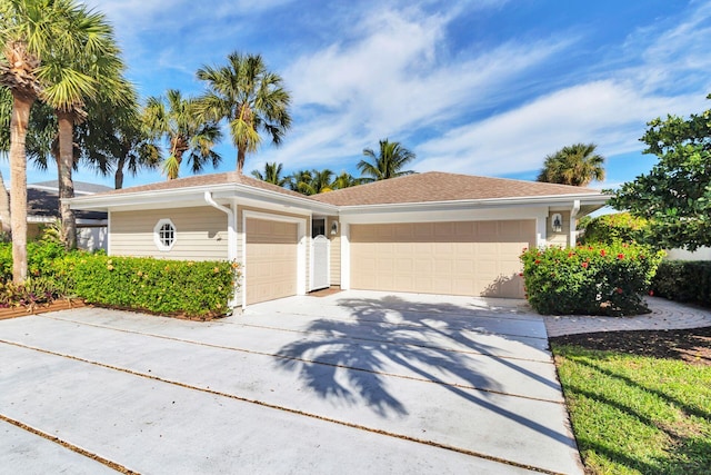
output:
[[[342,40],[297,59],[283,76],[300,121],[284,148],[268,157],[333,167],[390,137],[419,131],[490,107],[529,68],[573,41],[508,42],[477,56],[451,57],[448,16],[384,10]],[[409,145],[409,144],[408,144]]]

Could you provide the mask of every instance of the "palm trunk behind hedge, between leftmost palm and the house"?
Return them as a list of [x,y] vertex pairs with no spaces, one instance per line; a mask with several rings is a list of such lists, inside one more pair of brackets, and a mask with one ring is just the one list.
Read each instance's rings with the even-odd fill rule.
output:
[[74,167],[74,115],[57,111],[59,125],[59,199],[60,215],[62,218],[62,241],[68,249],[77,248],[77,219],[74,211],[67,202],[74,197],[74,181],[72,170]]

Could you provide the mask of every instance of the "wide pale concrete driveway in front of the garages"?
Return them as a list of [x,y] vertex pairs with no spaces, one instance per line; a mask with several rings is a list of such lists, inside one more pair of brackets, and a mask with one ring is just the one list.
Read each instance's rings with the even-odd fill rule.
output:
[[0,472],[581,474],[547,348],[522,301],[365,291],[2,320]]

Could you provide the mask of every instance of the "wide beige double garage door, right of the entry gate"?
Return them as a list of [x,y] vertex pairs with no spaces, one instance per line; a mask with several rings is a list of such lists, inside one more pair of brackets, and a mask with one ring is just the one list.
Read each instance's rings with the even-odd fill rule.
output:
[[521,298],[535,221],[351,225],[350,243],[352,288]]

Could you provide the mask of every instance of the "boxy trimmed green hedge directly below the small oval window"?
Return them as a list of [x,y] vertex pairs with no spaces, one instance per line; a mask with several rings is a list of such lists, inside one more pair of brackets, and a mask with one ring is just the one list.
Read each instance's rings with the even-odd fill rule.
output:
[[91,304],[204,317],[226,314],[239,267],[76,253],[56,263],[54,275]]

